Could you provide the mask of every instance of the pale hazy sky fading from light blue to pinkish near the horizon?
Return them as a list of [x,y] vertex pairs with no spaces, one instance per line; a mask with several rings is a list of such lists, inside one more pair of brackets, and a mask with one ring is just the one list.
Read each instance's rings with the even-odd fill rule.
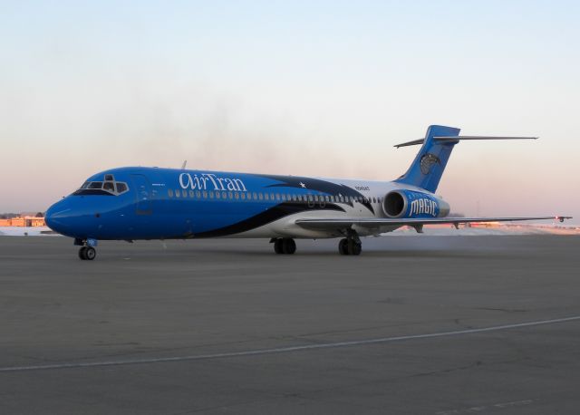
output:
[[[0,212],[121,166],[391,180],[430,124],[469,216],[580,219],[580,3],[0,0]],[[580,220],[575,220],[580,223]]]

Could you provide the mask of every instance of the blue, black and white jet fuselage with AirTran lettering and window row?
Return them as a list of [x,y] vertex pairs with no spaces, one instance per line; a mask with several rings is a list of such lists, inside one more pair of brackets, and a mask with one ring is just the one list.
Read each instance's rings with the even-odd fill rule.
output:
[[[82,240],[333,237],[340,232],[305,230],[294,225],[294,218],[384,217],[383,197],[393,188],[402,187],[393,182],[217,171],[111,169],[87,179],[82,188],[50,207],[46,223]],[[427,217],[438,214],[424,212]],[[391,229],[365,232],[385,230]]]

